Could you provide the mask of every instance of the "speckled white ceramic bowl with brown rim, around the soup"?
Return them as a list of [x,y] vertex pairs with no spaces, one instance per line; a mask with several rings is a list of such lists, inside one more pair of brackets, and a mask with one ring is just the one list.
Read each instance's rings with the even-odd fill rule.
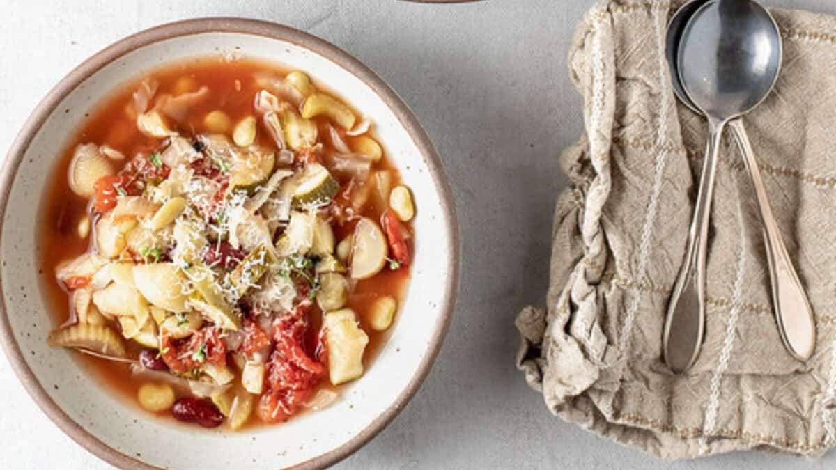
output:
[[[45,185],[84,113],[120,83],[161,63],[235,51],[302,69],[368,115],[415,195],[415,262],[390,339],[365,375],[323,411],[247,432],[169,424],[125,403],[50,348],[54,324],[39,273],[38,220]],[[237,18],[171,23],[125,38],[65,77],[29,117],[0,180],[0,339],[23,385],[70,437],[117,467],[323,467],[385,427],[421,386],[455,303],[458,230],[441,162],[415,117],[370,69],[293,28]],[[25,424],[23,424],[25,426]]]

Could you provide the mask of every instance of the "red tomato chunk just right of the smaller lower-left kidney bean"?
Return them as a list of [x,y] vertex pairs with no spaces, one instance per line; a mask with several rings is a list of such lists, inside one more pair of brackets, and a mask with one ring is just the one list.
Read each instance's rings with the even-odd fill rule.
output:
[[196,369],[206,362],[223,364],[227,361],[227,345],[215,327],[197,330],[187,339],[174,340],[163,335],[161,357],[168,368],[177,373]]

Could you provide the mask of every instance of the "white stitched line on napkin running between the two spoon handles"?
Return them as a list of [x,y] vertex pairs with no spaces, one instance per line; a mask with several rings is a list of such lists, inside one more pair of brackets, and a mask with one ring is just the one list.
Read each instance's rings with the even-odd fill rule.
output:
[[[737,179],[737,178],[735,178]],[[740,210],[737,211],[737,226],[740,230],[740,256],[737,260],[737,273],[735,274],[734,290],[732,293],[732,312],[726,319],[726,337],[723,338],[723,347],[720,351],[720,360],[717,367],[711,375],[711,385],[709,386],[711,394],[708,397],[708,406],[706,407],[706,421],[703,438],[700,441],[702,453],[708,452],[708,443],[706,437],[714,433],[716,426],[717,411],[720,408],[720,381],[726,368],[729,365],[729,359],[732,356],[732,348],[734,347],[735,328],[737,327],[737,317],[740,315],[741,298],[743,296],[743,278],[746,274],[746,224],[743,223],[743,198],[738,201]]]

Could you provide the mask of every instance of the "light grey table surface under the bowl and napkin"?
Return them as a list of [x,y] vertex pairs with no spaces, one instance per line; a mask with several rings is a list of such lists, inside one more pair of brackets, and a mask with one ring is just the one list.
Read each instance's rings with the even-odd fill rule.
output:
[[[0,155],[64,74],[129,33],[183,18],[262,18],[337,44],[380,74],[435,142],[458,207],[461,289],[410,405],[344,468],[833,468],[737,452],[663,462],[551,416],[514,368],[512,321],[542,304],[558,152],[578,139],[566,56],[592,0],[0,0]],[[832,0],[771,0],[836,13]],[[108,466],[65,437],[0,354],[0,468]]]

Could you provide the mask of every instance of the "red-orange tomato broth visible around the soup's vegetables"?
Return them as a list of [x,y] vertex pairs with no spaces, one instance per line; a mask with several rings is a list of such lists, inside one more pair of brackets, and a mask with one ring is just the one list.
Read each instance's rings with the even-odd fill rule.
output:
[[[69,162],[72,159],[74,149],[79,144],[86,142],[94,142],[98,145],[109,145],[117,151],[122,152],[126,158],[125,161],[120,162],[125,165],[135,154],[142,152],[148,154],[160,145],[160,140],[146,137],[137,129],[135,125],[135,115],[130,114],[130,103],[132,101],[132,93],[139,86],[142,79],[153,77],[159,82],[159,89],[157,95],[171,93],[176,95],[173,91],[179,86],[179,91],[184,91],[183,82],[191,81],[192,86],[185,91],[194,91],[202,85],[206,85],[210,89],[209,97],[201,102],[199,105],[191,108],[186,122],[182,125],[176,125],[173,120],[170,120],[172,128],[180,130],[184,135],[194,135],[198,133],[207,133],[204,128],[203,117],[212,110],[223,110],[232,120],[232,123],[237,122],[246,115],[252,115],[252,103],[255,94],[261,87],[257,86],[255,80],[252,78],[253,74],[258,71],[272,71],[284,75],[287,69],[272,64],[256,60],[235,60],[227,61],[220,58],[198,58],[180,61],[175,64],[166,64],[159,69],[155,69],[149,74],[131,80],[129,83],[120,85],[119,88],[112,91],[109,95],[94,105],[93,110],[84,115],[84,121],[79,125],[79,129],[74,132],[68,144],[64,147],[63,154],[58,157],[57,162],[52,169],[50,176],[51,186],[48,187],[45,197],[43,198],[40,211],[41,217],[38,221],[40,227],[40,248],[41,248],[41,273],[42,288],[47,293],[48,305],[54,317],[54,324],[68,324],[74,322],[71,318],[71,309],[69,303],[69,291],[65,289],[64,285],[57,282],[54,278],[56,268],[60,263],[78,257],[89,249],[90,238],[79,238],[76,227],[81,217],[89,214],[89,201],[74,194],[69,189],[68,171]],[[191,80],[178,80],[183,77],[188,77]],[[240,81],[240,89],[237,89],[236,81]],[[317,89],[334,95],[340,99],[344,98],[339,93],[334,93],[334,89],[328,86],[323,86],[314,80]],[[349,100],[344,100],[349,104]],[[350,104],[349,104],[350,106]],[[361,116],[361,113],[355,111],[355,115]],[[324,120],[327,118],[316,118],[320,122],[320,129],[323,127]],[[374,136],[374,135],[371,135]],[[320,140],[329,146],[327,138]],[[377,140],[377,139],[376,139]],[[380,140],[378,140],[380,142]],[[268,135],[268,132],[263,128],[261,120],[258,120],[257,129],[257,144],[275,148],[273,140]],[[375,168],[381,170],[388,170],[393,175],[392,187],[400,184],[400,174],[393,161],[385,151],[385,145],[380,142],[384,149],[383,159],[375,163]],[[369,181],[367,184],[372,184]],[[372,190],[374,192],[374,190]],[[360,211],[361,215],[370,217],[375,221],[380,221],[380,217],[387,208],[387,203],[381,201],[380,197],[372,196]],[[92,224],[91,224],[92,225]],[[406,230],[412,234],[411,224],[404,224]],[[354,230],[354,222],[348,222],[344,226],[334,225],[334,235],[339,242],[346,235],[349,235]],[[91,227],[92,232],[92,227]],[[411,239],[408,241],[411,249]],[[385,268],[383,271],[375,275],[373,278],[353,281],[356,283],[352,294],[349,295],[349,301],[346,308],[354,309],[358,314],[363,330],[369,335],[370,343],[364,351],[364,366],[366,369],[374,362],[375,356],[380,353],[382,345],[390,335],[390,330],[395,327],[397,322],[397,314],[393,325],[387,331],[375,331],[370,328],[366,312],[369,310],[371,302],[380,295],[391,295],[400,302],[405,297],[406,285],[410,276],[410,267],[405,266],[396,271],[390,271]],[[306,332],[306,345],[316,344],[319,337],[319,330],[322,324],[322,311],[314,304],[308,315],[308,330]],[[139,355],[143,348],[133,341],[125,341],[125,346],[129,351],[130,357]],[[92,355],[76,354],[83,367],[91,371],[94,380],[103,384],[107,389],[115,392],[115,395],[121,396],[123,399],[131,403],[133,406],[140,408],[136,401],[136,395],[139,387],[149,380],[137,377],[130,372],[129,365],[118,363],[111,360],[104,360]],[[232,361],[228,361],[232,362]],[[327,365],[326,365],[327,367]],[[233,367],[234,369],[234,367]],[[240,375],[237,375],[236,381],[239,380]],[[358,380],[363,380],[360,377]],[[153,382],[153,381],[152,381]],[[328,381],[327,371],[320,381],[319,388],[328,388],[335,391],[344,388],[344,386],[331,386]],[[184,393],[175,387],[177,398],[183,396],[191,396],[191,394]],[[258,397],[255,396],[257,406]],[[156,416],[164,417],[170,421],[175,421],[171,417],[170,411],[151,412],[145,411]],[[297,414],[306,412],[306,409],[300,409]],[[293,419],[292,417],[290,419]],[[175,421],[176,422],[176,421]],[[253,412],[245,427],[261,426],[263,425],[256,413]]]

